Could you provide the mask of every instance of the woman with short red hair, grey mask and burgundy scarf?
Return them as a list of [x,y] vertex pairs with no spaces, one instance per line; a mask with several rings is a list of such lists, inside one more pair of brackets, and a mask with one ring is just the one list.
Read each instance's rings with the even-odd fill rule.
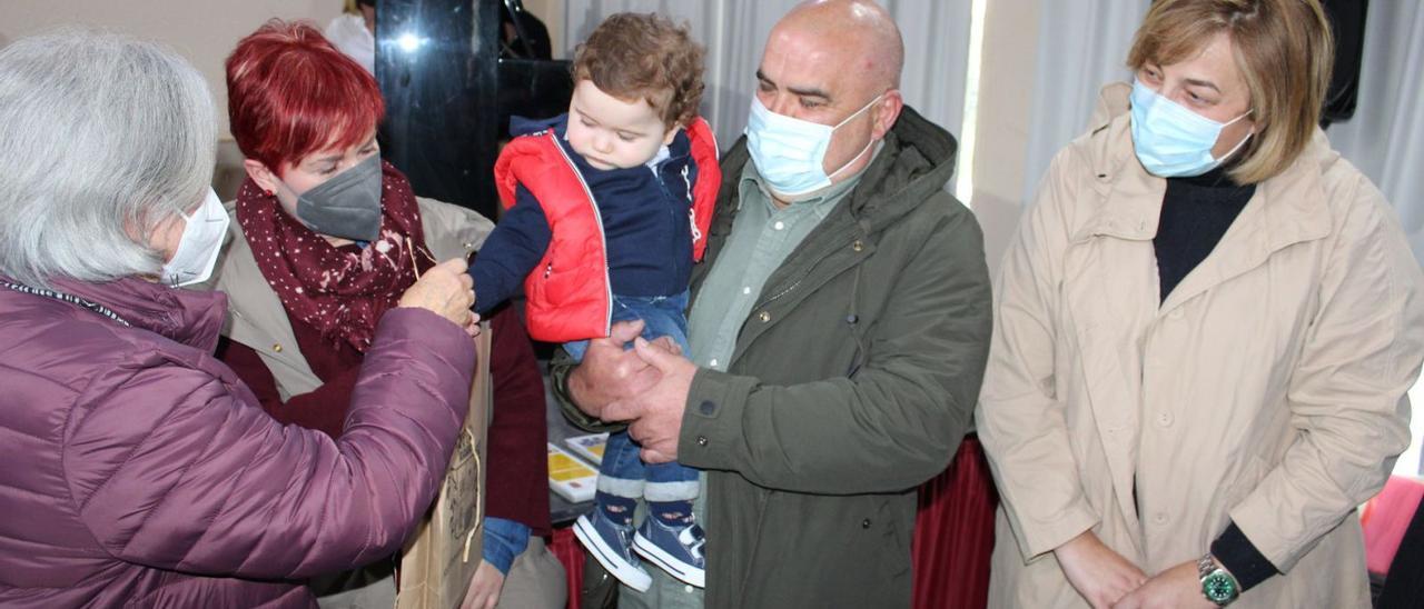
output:
[[[219,357],[283,423],[339,438],[376,322],[430,260],[468,256],[493,225],[417,198],[380,159],[372,75],[313,27],[269,21],[226,61],[228,115],[248,178],[218,272],[231,316]],[[483,563],[467,606],[562,606],[550,532],[544,387],[514,313],[490,316]],[[313,581],[326,606],[390,606],[394,561]]]

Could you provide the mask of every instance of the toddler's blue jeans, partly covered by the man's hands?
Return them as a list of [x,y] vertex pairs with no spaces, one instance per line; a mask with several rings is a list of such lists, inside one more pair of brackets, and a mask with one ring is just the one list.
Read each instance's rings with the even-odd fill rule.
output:
[[[614,295],[614,322],[641,319],[642,337],[654,340],[671,336],[682,347],[688,347],[688,293],[674,296],[618,296]],[[625,344],[624,349],[632,349]],[[582,361],[588,350],[587,340],[565,343],[564,350],[574,360]],[[698,497],[698,471],[682,467],[676,461],[649,465],[638,458],[638,444],[627,431],[608,434],[604,461],[598,467],[598,489],[615,497],[646,498],[648,501],[692,501]]]

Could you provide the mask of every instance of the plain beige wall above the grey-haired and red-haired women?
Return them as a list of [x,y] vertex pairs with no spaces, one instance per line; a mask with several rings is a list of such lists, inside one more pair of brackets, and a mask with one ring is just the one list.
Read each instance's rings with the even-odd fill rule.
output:
[[222,61],[238,40],[272,17],[325,28],[340,11],[342,0],[0,0],[0,44],[78,23],[172,46],[208,78],[229,138]]

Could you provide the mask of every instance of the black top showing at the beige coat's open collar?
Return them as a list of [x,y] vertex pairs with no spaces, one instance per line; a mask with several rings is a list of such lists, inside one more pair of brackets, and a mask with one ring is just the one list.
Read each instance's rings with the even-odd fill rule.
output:
[[1237,185],[1227,171],[1218,166],[1195,178],[1168,178],[1158,235],[1152,238],[1161,302],[1212,253],[1256,194],[1255,184]]

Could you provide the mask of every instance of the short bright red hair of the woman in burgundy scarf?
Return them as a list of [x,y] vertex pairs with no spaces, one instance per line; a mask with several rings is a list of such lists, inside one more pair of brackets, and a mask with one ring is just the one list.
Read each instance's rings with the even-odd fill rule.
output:
[[305,23],[265,23],[226,68],[232,138],[279,176],[312,152],[363,144],[386,114],[376,78]]

